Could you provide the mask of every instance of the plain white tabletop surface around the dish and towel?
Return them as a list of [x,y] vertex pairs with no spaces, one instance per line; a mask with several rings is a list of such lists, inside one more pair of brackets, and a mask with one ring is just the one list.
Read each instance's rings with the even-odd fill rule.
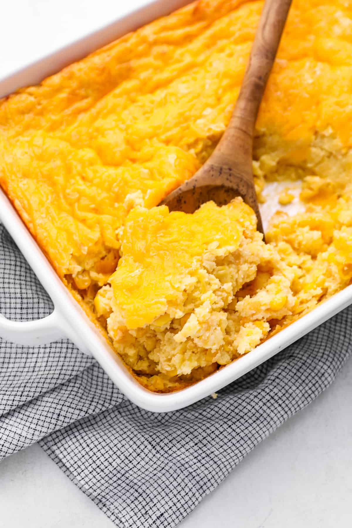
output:
[[[167,2],[168,0],[165,0]],[[0,78],[146,0],[2,2]],[[350,528],[352,361],[258,446],[182,528]],[[1,528],[113,528],[38,446],[0,463]]]

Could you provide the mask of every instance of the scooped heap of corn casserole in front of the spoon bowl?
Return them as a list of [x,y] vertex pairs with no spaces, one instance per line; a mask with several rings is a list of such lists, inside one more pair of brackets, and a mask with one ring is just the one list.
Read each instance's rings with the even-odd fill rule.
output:
[[240,198],[194,214],[164,205],[127,216],[122,258],[94,304],[116,350],[135,371],[154,374],[154,388],[230,363],[292,313],[297,272],[255,227]]

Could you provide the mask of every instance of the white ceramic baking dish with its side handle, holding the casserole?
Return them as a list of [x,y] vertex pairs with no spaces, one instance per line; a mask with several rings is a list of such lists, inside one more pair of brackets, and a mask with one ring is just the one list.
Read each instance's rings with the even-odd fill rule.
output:
[[[131,12],[49,57],[45,57],[6,79],[0,80],[0,96],[5,96],[19,87],[40,82],[48,75],[59,71],[65,65],[82,58],[118,36],[187,3],[187,0],[146,2],[146,5],[139,10]],[[267,210],[268,205],[270,206],[270,204],[265,206]],[[130,400],[150,411],[163,412],[180,409],[216,392],[352,304],[351,285],[318,306],[310,314],[305,315],[256,347],[249,354],[215,372],[205,380],[178,392],[156,394],[144,389],[135,380],[119,356],[113,352],[98,329],[90,322],[83,309],[62,284],[50,262],[37,246],[12,204],[1,190],[0,219],[54,304],[54,312],[51,315],[33,322],[14,322],[0,316],[0,336],[24,345],[49,343],[61,337],[69,337],[81,351],[95,357],[111,380]]]

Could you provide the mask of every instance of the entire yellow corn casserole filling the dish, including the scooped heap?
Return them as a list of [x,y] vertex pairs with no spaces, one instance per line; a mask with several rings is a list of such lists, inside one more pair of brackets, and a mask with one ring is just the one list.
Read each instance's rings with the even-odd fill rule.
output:
[[259,201],[286,184],[267,243],[241,198],[158,205],[221,138],[262,6],[198,0],[0,100],[2,188],[153,391],[201,380],[351,283],[352,2],[292,2],[254,139]]

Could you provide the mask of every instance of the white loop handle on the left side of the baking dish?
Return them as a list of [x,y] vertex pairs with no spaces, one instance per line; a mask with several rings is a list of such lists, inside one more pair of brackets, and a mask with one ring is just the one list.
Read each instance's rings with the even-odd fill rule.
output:
[[70,337],[58,311],[34,321],[12,321],[0,314],[0,337],[18,345],[44,345]]

